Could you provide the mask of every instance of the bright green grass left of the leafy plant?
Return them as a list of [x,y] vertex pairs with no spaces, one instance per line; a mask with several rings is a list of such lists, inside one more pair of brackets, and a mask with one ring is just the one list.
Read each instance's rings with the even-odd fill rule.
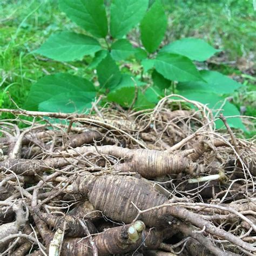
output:
[[76,25],[59,12],[57,1],[38,2],[4,1],[0,9],[0,107],[15,107],[6,91],[22,107],[31,84],[50,73],[70,72],[84,76],[85,61],[73,66],[73,63],[60,63],[31,53],[52,32],[76,29]]

